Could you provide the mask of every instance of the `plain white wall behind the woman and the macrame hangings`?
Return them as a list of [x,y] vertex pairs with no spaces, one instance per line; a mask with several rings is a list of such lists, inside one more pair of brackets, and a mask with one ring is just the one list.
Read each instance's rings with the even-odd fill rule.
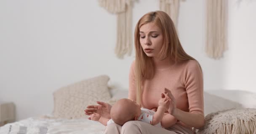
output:
[[[214,60],[204,53],[204,0],[181,2],[179,36],[203,67],[205,90],[254,91],[256,2],[229,0],[229,50]],[[240,3],[239,3],[240,2]],[[133,29],[158,0],[138,0]],[[114,54],[116,16],[97,0],[0,1],[0,102],[16,104],[17,120],[53,110],[54,90],[101,74],[128,88],[134,59]]]

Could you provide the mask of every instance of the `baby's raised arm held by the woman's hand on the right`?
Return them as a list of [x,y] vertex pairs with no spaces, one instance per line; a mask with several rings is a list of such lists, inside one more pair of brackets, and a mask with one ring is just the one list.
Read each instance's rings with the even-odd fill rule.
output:
[[170,99],[162,95],[162,98],[158,101],[158,105],[157,111],[153,115],[152,125],[158,124],[162,121],[163,115],[170,105]]

